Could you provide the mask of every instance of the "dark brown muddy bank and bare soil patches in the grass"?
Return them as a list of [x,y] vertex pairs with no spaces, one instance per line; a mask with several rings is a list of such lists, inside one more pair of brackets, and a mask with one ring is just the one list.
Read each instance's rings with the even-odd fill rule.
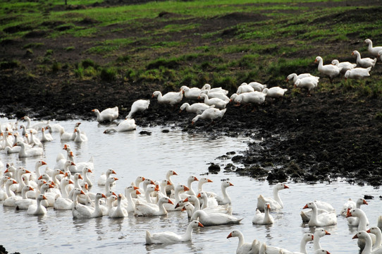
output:
[[[347,4],[351,5],[357,5],[357,3],[357,1],[347,1]],[[312,6],[313,4],[306,5]],[[324,4],[335,6],[344,3],[328,1]],[[373,4],[373,1],[362,1],[362,4]],[[75,8],[81,8],[81,6]],[[381,12],[379,11],[379,13]],[[171,15],[174,14],[161,13],[158,18]],[[352,18],[364,18],[364,16],[352,15]],[[232,13],[228,16],[209,19],[208,22],[197,28],[197,32],[212,32],[216,29],[230,28],[233,24],[240,22],[264,19],[266,16]],[[1,21],[4,22],[4,20]],[[82,25],[93,25],[95,21],[85,19],[81,22]],[[190,20],[185,19],[178,22],[190,23]],[[51,27],[51,29],[55,29],[59,25],[60,29],[67,29],[62,23],[42,25]],[[153,26],[156,23],[150,22],[147,25]],[[113,26],[113,29],[117,26]],[[123,28],[122,25],[121,28]],[[28,29],[14,27],[4,32]],[[137,36],[144,30],[144,28],[140,30],[123,28],[123,32]],[[196,36],[195,31],[187,32],[190,33],[183,33],[181,36],[189,37],[194,44],[203,45],[205,40],[210,40]],[[235,43],[229,40],[234,33],[234,30],[227,29],[218,36],[224,37],[223,42],[230,44]],[[20,75],[22,72],[25,73],[25,68],[35,70],[36,56],[44,56],[46,49],[53,49],[54,58],[61,63],[74,64],[87,58],[91,58],[99,64],[115,60],[96,55],[82,55],[81,52],[84,52],[90,42],[100,40],[102,32],[99,34],[99,37],[86,38],[86,40],[78,37],[51,40],[47,38],[45,32],[35,30],[28,33],[23,40],[3,41],[0,45],[1,58],[6,61],[18,60],[24,69],[9,66],[0,70],[0,111],[5,116],[18,118],[30,115],[41,119],[57,120],[95,119],[92,109],[104,109],[118,105],[122,119],[128,114],[130,105],[136,99],[149,99],[154,90],[169,91],[168,88],[163,88],[158,84],[137,85],[123,80],[113,83],[103,83],[97,79],[78,80],[70,76],[65,68],[50,74],[39,75],[39,73],[31,71],[35,75],[29,77]],[[110,36],[109,39],[112,39],[113,36],[117,38],[123,35],[115,32]],[[359,40],[357,35],[348,36],[354,38],[352,45],[333,42],[331,47],[325,49],[326,52],[333,52],[341,47],[345,47],[344,50],[349,52],[350,48],[363,46],[362,40]],[[378,39],[378,41],[382,41],[382,37]],[[41,49],[33,49],[33,54],[28,55],[23,46],[32,42],[42,42],[45,46]],[[142,44],[144,42],[137,41],[136,46]],[[73,51],[64,50],[72,45],[75,47]],[[316,52],[312,49],[312,52],[293,54],[311,56]],[[343,60],[349,61],[352,58]],[[313,63],[310,67],[316,68]],[[374,72],[381,73],[381,69],[382,65],[378,62]],[[295,72],[304,71],[307,70],[296,70]],[[272,84],[271,80],[264,80],[264,83],[271,86],[280,85]],[[224,169],[226,171],[266,178],[269,181],[284,181],[288,177],[295,181],[331,181],[337,177],[345,177],[350,182],[379,186],[382,180],[381,108],[380,98],[357,97],[354,99],[352,96],[344,95],[339,89],[314,92],[310,97],[302,92],[300,95],[288,96],[283,100],[267,98],[266,103],[254,111],[233,107],[232,104],[229,104],[221,121],[212,125],[208,125],[209,123],[206,121],[198,121],[195,126],[191,125],[191,119],[194,116],[187,113],[179,114],[178,109],[159,105],[156,99],[152,99],[149,109],[137,114],[135,121],[140,126],[176,123],[188,133],[205,132],[211,137],[248,135],[257,140],[263,139],[261,142],[249,144],[249,150],[245,152],[245,155],[233,153],[223,155],[223,157],[232,159],[233,162],[241,162],[245,165],[237,168],[231,164]],[[228,150],[231,149],[228,147]],[[216,167],[214,169],[216,170]]]

